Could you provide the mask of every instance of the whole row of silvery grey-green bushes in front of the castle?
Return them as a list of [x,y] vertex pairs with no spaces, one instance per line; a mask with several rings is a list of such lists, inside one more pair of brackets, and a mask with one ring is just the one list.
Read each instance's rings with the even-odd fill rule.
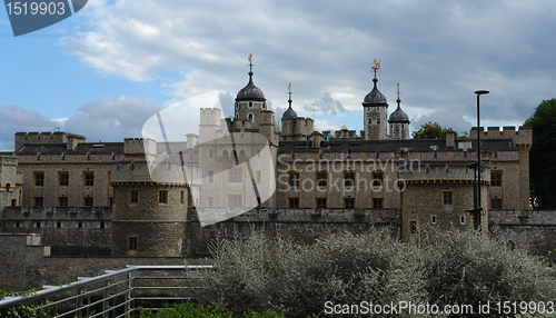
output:
[[215,242],[218,270],[207,276],[207,289],[198,300],[236,315],[271,309],[306,317],[325,314],[326,301],[410,301],[440,308],[464,304],[477,310],[479,301],[556,299],[554,269],[485,235],[431,231],[426,242],[403,244],[388,232],[371,230],[328,233],[302,245],[252,230],[247,238],[236,235]]

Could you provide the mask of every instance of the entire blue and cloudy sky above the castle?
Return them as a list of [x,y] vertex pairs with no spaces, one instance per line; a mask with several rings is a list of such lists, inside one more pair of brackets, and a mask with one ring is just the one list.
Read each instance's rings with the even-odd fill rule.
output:
[[215,91],[231,116],[249,54],[277,121],[291,83],[294,109],[316,130],[361,130],[377,59],[388,113],[399,82],[411,130],[468,131],[481,89],[481,126],[519,126],[556,97],[554,17],[553,0],[89,0],[13,37],[0,10],[0,150],[18,131],[141,137],[158,111]]

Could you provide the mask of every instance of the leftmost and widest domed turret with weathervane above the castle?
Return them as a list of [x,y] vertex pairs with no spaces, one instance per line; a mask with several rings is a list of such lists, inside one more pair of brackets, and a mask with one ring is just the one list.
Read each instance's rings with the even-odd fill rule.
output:
[[260,112],[267,110],[262,91],[252,82],[252,56],[249,56],[249,82],[236,97],[235,121],[259,123]]

